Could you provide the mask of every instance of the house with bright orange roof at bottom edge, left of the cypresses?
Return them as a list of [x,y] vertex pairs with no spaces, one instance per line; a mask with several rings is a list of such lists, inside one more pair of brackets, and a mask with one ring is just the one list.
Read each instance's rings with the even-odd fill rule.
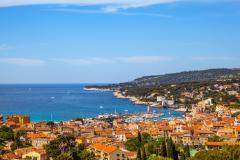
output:
[[90,149],[95,153],[98,160],[127,160],[126,153],[113,145],[96,143],[91,145]]

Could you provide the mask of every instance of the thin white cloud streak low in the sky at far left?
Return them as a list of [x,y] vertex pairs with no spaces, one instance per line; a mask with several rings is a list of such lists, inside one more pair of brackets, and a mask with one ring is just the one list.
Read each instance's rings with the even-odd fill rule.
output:
[[14,65],[42,65],[45,61],[40,59],[28,58],[0,58],[1,64],[14,64]]

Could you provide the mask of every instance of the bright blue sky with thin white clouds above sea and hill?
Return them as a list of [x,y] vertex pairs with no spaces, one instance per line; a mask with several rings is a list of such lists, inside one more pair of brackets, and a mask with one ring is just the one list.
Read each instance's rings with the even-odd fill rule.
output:
[[240,68],[240,0],[0,0],[0,83]]

